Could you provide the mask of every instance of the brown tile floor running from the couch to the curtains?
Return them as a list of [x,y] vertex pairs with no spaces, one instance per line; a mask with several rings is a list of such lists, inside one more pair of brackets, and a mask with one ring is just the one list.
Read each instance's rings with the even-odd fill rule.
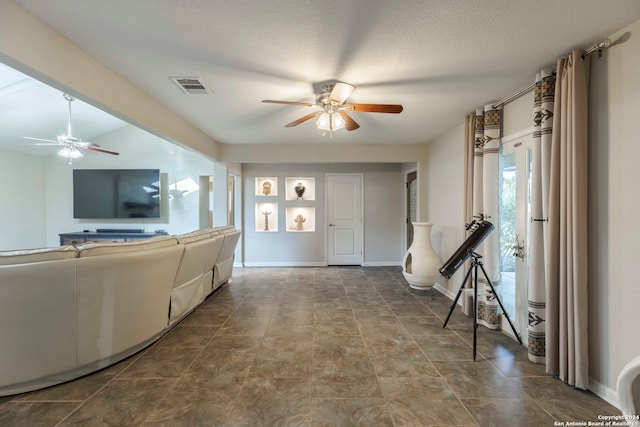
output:
[[0,398],[0,426],[553,426],[620,412],[398,268],[241,268],[153,346]]

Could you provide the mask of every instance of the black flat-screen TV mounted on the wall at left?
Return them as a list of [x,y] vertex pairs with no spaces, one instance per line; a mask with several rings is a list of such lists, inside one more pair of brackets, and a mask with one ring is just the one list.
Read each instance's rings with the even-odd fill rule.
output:
[[74,218],[159,218],[159,169],[74,169]]

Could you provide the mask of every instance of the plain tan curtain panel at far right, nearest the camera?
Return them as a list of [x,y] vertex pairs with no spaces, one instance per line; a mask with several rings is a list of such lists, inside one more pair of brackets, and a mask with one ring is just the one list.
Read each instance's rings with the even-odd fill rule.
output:
[[547,372],[585,390],[589,65],[578,50],[558,61],[545,235]]

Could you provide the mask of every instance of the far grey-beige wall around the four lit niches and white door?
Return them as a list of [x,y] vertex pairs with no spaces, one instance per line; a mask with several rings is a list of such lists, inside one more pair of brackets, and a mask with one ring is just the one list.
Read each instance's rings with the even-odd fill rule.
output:
[[[398,163],[246,163],[243,166],[245,223],[244,262],[248,266],[326,265],[326,174],[362,174],[363,177],[363,261],[365,265],[400,265],[404,255],[404,184]],[[277,178],[277,196],[255,194],[257,177]],[[287,177],[314,178],[315,200],[287,201]],[[270,203],[277,212],[278,231],[264,233],[255,227],[255,203]],[[286,208],[314,208],[315,231],[285,231]],[[274,230],[274,218],[269,223]],[[309,226],[310,224],[307,224]]]

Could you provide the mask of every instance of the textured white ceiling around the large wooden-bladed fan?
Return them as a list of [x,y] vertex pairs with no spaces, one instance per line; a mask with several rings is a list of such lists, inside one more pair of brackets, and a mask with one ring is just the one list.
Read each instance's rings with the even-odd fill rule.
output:
[[[533,81],[572,48],[640,18],[638,0],[17,0],[84,51],[223,143],[326,141],[284,124],[327,80],[357,86],[349,143],[422,143]],[[615,47],[614,47],[615,48]],[[201,77],[185,95],[170,77]]]

